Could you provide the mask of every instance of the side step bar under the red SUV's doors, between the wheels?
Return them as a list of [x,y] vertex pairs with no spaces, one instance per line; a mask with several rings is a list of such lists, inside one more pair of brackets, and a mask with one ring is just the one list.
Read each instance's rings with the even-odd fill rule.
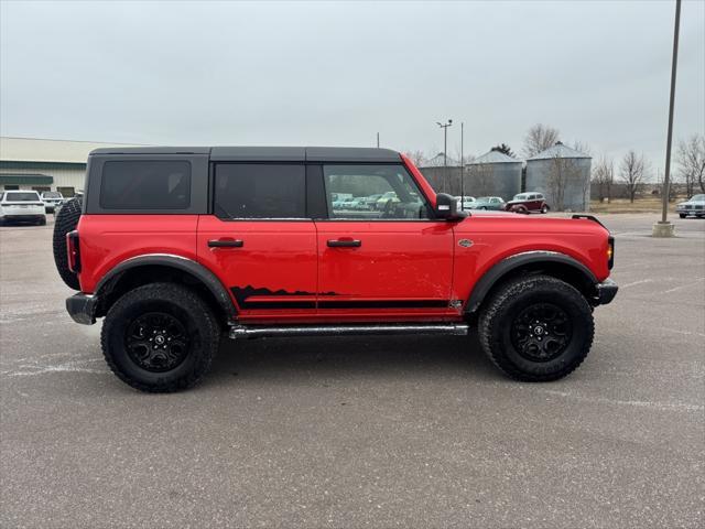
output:
[[389,324],[389,325],[299,325],[299,326],[246,326],[230,327],[229,337],[263,338],[285,336],[346,336],[383,334],[449,334],[464,336],[468,333],[466,323],[442,324]]

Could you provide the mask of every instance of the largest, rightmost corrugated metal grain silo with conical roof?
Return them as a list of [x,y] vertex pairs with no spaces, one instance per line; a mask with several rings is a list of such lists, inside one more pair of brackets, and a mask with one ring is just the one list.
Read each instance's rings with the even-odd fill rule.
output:
[[587,212],[592,160],[558,141],[527,160],[525,191],[543,193],[553,210]]

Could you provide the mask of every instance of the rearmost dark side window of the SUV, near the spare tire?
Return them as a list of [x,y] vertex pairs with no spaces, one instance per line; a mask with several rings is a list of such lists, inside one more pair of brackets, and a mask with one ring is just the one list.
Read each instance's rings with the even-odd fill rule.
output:
[[187,209],[191,163],[174,160],[106,162],[100,207],[106,209]]

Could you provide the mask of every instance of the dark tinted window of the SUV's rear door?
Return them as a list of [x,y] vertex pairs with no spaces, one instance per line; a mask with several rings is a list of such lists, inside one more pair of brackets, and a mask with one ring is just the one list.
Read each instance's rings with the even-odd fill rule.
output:
[[220,218],[306,218],[302,164],[219,163],[214,212]]

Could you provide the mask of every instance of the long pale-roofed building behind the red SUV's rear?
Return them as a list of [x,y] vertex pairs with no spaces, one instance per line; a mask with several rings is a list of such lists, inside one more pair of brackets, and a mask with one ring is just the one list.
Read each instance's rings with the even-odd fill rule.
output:
[[0,137],[0,191],[59,191],[73,196],[84,188],[88,153],[119,143]]

